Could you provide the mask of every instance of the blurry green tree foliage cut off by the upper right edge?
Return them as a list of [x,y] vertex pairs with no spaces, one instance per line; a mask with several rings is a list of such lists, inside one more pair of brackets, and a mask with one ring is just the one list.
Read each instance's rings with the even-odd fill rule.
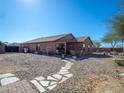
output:
[[118,35],[124,51],[124,2],[121,1],[120,11],[110,20],[111,32]]

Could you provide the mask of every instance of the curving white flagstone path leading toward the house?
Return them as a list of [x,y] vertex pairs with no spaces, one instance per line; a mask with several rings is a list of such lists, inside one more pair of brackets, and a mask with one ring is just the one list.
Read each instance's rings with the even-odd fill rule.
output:
[[69,69],[71,69],[73,63],[67,60],[63,61],[65,62],[65,66],[61,67],[60,71],[56,74],[47,76],[47,78],[39,76],[30,81],[39,90],[40,93],[53,90],[57,87],[58,84],[63,83],[73,76],[73,74],[69,72]]

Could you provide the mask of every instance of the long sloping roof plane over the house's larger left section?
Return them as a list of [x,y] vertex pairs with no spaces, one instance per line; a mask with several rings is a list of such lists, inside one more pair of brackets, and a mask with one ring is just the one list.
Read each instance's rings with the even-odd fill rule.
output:
[[[70,34],[70,33],[69,33]],[[30,40],[24,43],[37,43],[37,42],[50,42],[50,41],[56,41],[60,38],[63,38],[69,34],[61,34],[61,35],[55,35],[55,36],[48,36],[48,37],[41,37],[38,39]]]

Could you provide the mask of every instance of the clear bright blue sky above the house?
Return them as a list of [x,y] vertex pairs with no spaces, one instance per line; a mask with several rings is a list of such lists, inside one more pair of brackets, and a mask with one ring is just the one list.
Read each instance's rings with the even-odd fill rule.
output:
[[24,42],[62,33],[98,40],[119,0],[0,0],[0,41]]

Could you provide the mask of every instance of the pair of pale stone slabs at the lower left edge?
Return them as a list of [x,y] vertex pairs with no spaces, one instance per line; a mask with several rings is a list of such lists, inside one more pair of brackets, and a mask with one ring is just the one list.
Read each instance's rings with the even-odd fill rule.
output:
[[0,85],[5,86],[11,83],[15,83],[19,81],[19,78],[17,78],[12,73],[6,73],[6,74],[0,74]]

